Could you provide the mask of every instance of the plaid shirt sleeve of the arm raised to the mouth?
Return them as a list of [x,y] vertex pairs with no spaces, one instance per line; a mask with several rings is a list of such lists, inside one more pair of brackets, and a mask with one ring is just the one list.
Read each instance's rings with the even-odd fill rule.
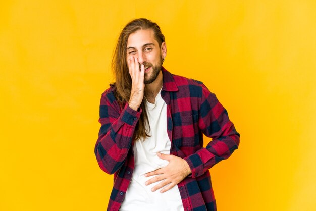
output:
[[94,153],[104,172],[114,174],[123,165],[141,112],[141,109],[131,109],[128,103],[121,110],[112,91],[107,90],[102,94],[99,112],[101,127]]

